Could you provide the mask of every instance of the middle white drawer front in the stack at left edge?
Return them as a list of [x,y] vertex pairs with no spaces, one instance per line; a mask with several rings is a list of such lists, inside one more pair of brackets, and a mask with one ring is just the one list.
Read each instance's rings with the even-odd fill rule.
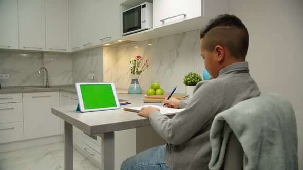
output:
[[22,102],[0,104],[0,123],[23,121],[22,107]]

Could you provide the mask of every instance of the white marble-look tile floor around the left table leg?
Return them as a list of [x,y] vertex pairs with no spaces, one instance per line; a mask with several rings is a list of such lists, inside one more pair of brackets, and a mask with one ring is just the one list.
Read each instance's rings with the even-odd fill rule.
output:
[[[1,170],[63,170],[64,142],[47,144],[0,153]],[[99,168],[73,150],[74,170],[98,170]]]

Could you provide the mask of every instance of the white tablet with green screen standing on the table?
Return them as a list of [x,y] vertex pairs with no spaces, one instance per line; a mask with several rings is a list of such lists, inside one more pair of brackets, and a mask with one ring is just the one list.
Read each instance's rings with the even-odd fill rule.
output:
[[113,82],[75,83],[81,112],[119,109],[119,99]]

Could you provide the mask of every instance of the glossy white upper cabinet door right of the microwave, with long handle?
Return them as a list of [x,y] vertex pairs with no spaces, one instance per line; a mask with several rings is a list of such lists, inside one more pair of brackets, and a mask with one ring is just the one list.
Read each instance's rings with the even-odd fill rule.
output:
[[201,16],[201,3],[201,0],[154,0],[153,28]]

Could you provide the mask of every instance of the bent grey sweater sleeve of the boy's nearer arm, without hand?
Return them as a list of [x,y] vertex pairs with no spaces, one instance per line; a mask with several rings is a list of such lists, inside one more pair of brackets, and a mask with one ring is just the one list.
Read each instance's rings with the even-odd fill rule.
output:
[[223,88],[220,84],[220,87],[216,84],[209,85],[211,83],[203,86],[200,84],[185,110],[177,113],[172,119],[159,111],[149,116],[155,131],[168,143],[179,145],[186,142],[218,113],[222,105]]

